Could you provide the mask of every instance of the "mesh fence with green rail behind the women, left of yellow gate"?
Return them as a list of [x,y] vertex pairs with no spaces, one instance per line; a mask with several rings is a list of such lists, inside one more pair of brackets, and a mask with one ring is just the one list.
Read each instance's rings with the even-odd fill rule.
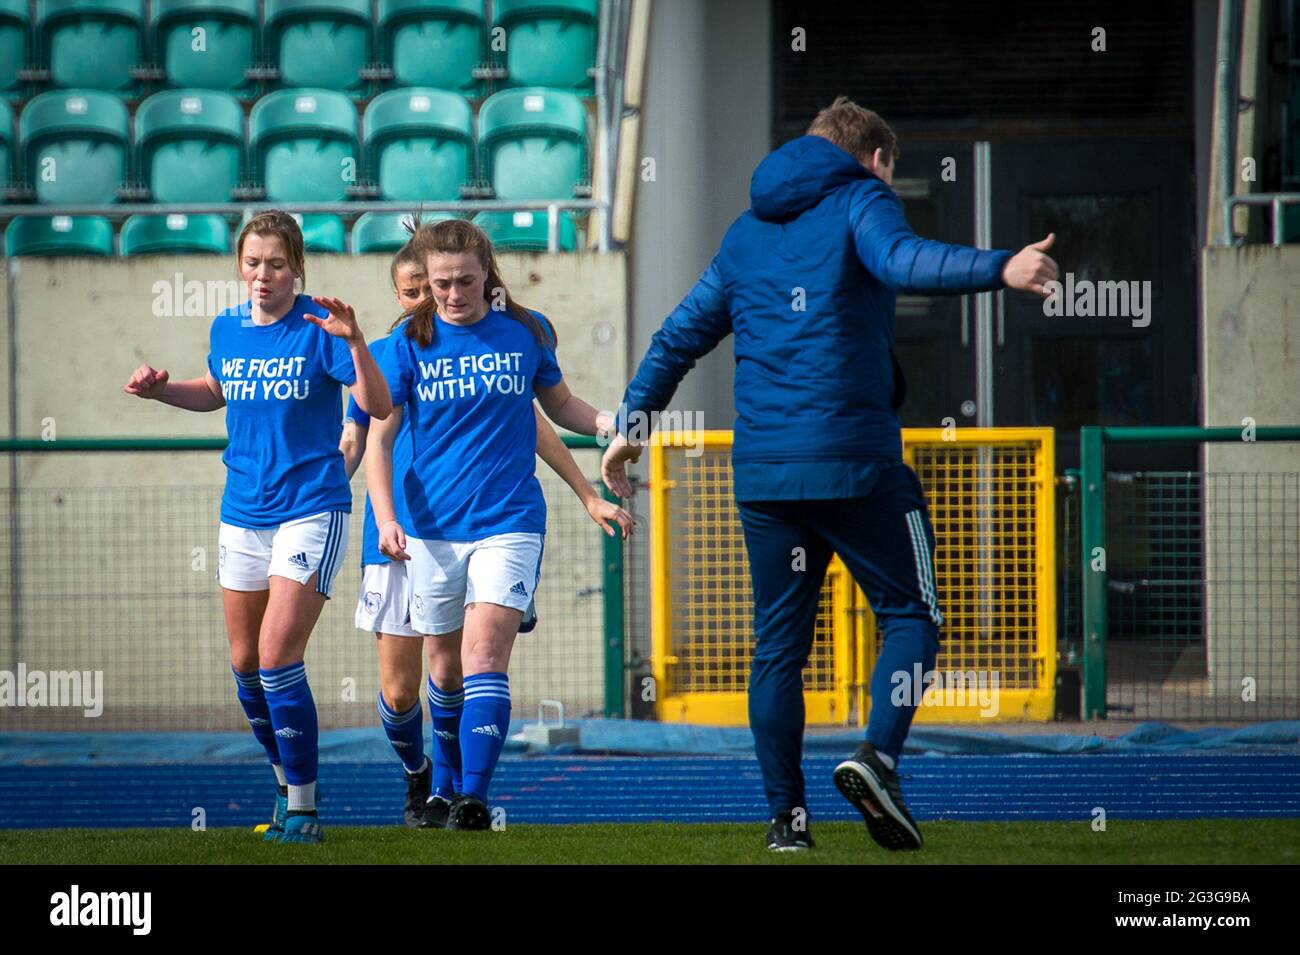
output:
[[[9,442],[32,447],[38,442]],[[598,482],[592,439],[568,438],[578,466]],[[103,712],[77,706],[0,706],[12,730],[239,730],[221,590],[216,582],[218,485],[96,486],[99,455],[73,452],[103,442],[61,439],[40,456],[39,486],[13,477],[35,457],[8,461],[0,539],[0,670],[48,686],[79,674],[101,680]],[[178,457],[214,455],[220,443],[130,442],[124,447],[204,448],[131,452],[140,473],[165,476]],[[90,473],[87,473],[87,470]],[[60,473],[62,472],[62,474]],[[74,473],[77,472],[77,473]],[[60,481],[66,477],[66,481]],[[608,634],[607,582],[623,607],[621,547],[604,542],[573,492],[538,463],[549,520],[537,594],[540,624],[520,634],[510,667],[519,722],[537,719],[541,700],[559,700],[569,716],[623,712],[621,634]],[[322,728],[378,725],[374,638],[354,625],[360,587],[364,486],[354,483],[346,563],[321,613],[306,661]],[[611,573],[611,567],[618,573]],[[611,639],[612,637],[612,639]],[[616,654],[616,656],[611,656]],[[34,674],[44,674],[36,677]],[[87,674],[90,674],[87,677]],[[31,699],[30,690],[27,699]]]

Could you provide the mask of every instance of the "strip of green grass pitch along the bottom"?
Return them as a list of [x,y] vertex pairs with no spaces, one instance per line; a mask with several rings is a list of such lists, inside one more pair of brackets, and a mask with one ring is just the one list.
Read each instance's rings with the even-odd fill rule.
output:
[[868,864],[1221,864],[1300,863],[1300,820],[1109,820],[924,822],[919,852],[887,852],[859,822],[812,825],[816,848],[770,854],[762,824],[510,825],[448,833],[402,826],[328,826],[322,846],[276,846],[251,829],[0,830],[0,859],[43,864],[263,863],[724,863]]

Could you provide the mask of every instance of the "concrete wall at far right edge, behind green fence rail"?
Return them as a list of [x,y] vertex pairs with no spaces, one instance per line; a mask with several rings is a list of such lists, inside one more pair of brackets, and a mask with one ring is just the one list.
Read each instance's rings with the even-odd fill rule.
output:
[[[1300,246],[1206,248],[1204,424],[1297,425]],[[1210,690],[1300,686],[1300,444],[1209,444],[1205,577]]]

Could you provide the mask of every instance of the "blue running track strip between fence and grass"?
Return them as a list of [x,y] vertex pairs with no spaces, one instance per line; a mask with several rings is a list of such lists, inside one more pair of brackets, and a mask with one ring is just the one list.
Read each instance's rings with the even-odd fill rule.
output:
[[[836,793],[838,756],[805,760],[814,819],[858,819]],[[1089,820],[1300,816],[1300,755],[1079,754],[905,756],[918,820]],[[406,786],[391,761],[321,764],[330,825],[399,821]],[[0,765],[0,828],[208,826],[269,819],[259,763]],[[766,815],[753,756],[507,758],[493,803],[514,822],[746,822]]]

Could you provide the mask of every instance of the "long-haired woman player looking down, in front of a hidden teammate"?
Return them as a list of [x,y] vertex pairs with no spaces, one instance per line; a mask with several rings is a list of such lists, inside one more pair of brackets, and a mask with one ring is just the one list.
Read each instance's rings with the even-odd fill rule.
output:
[[[459,742],[463,786],[447,828],[488,829],[488,786],[510,729],[510,654],[537,589],[546,531],[533,398],[572,431],[595,434],[602,422],[564,383],[550,322],[506,291],[481,229],[438,222],[412,242],[433,299],[380,360],[394,414],[373,429],[367,485],[380,550],[411,561],[411,622],[439,647],[430,660],[434,732],[439,743],[443,734]],[[412,460],[403,524],[393,444],[406,418]]]

